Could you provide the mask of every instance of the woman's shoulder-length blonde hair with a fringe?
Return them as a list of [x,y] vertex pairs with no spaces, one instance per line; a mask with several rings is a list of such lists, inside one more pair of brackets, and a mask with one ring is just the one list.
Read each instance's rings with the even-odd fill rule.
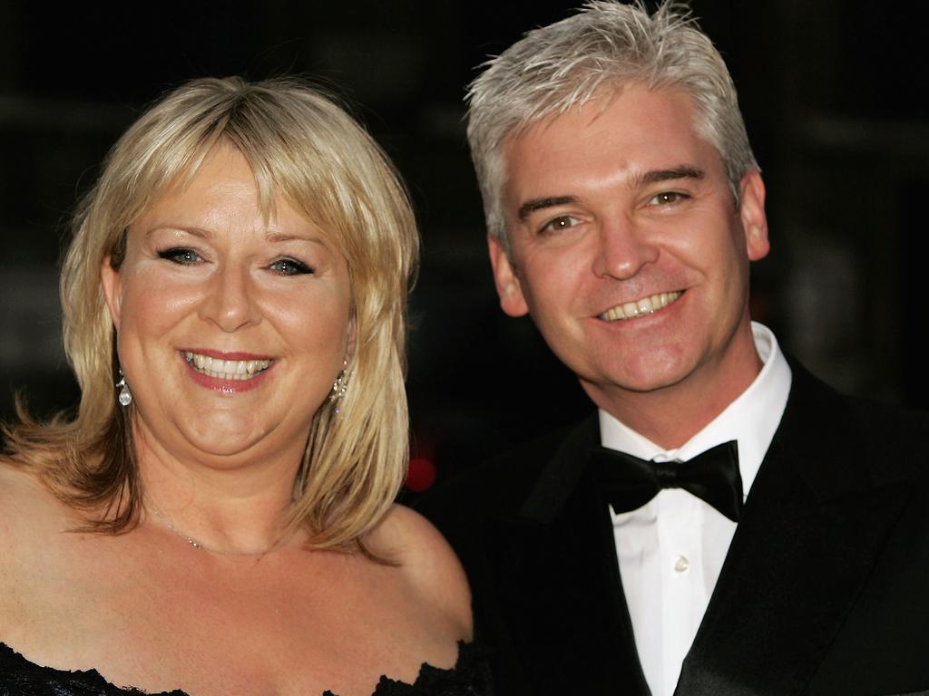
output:
[[61,270],[65,352],[81,387],[77,416],[40,424],[20,409],[20,422],[6,429],[8,456],[85,512],[87,529],[118,533],[137,522],[132,406],[116,405],[100,268],[107,256],[119,268],[127,228],[168,187],[189,181],[220,141],[251,165],[266,215],[280,196],[347,260],[356,348],[345,395],[324,403],[310,427],[292,525],[307,529],[315,548],[350,548],[393,502],[406,471],[406,302],[419,240],[385,153],[330,97],[293,80],[182,84],[111,149],[74,216]]

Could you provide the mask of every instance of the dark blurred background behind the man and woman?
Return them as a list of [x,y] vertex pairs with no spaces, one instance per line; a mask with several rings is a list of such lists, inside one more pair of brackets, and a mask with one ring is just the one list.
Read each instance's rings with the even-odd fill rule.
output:
[[[464,84],[579,2],[50,3],[0,0],[0,415],[77,397],[60,347],[66,221],[107,149],[201,75],[333,84],[405,176],[424,240],[412,296],[414,446],[444,477],[590,406],[530,321],[499,310],[464,138]],[[754,314],[849,393],[929,406],[929,32],[915,2],[694,0],[736,84],[773,250]]]

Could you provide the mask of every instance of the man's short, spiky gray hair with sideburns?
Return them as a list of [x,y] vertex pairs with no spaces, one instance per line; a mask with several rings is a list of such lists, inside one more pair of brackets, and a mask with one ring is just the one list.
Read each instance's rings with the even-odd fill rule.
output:
[[726,63],[687,6],[594,0],[578,14],[527,32],[491,58],[467,95],[467,135],[488,232],[509,251],[504,147],[546,117],[626,84],[676,89],[691,98],[694,130],[719,152],[735,200],[758,168]]

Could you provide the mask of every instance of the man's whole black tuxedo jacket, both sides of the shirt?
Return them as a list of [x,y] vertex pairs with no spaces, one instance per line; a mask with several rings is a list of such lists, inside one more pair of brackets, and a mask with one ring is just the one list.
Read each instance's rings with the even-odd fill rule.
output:
[[[676,693],[929,693],[929,415],[792,368]],[[594,415],[419,505],[464,563],[502,696],[648,694],[596,445]]]

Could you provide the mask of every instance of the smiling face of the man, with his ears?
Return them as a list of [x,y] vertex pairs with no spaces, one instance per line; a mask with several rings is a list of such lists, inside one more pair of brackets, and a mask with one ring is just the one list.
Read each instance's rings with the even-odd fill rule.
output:
[[504,150],[513,264],[490,242],[501,304],[530,313],[614,415],[632,393],[735,398],[757,373],[748,284],[768,251],[764,185],[747,174],[737,209],[693,122],[689,97],[634,85]]

